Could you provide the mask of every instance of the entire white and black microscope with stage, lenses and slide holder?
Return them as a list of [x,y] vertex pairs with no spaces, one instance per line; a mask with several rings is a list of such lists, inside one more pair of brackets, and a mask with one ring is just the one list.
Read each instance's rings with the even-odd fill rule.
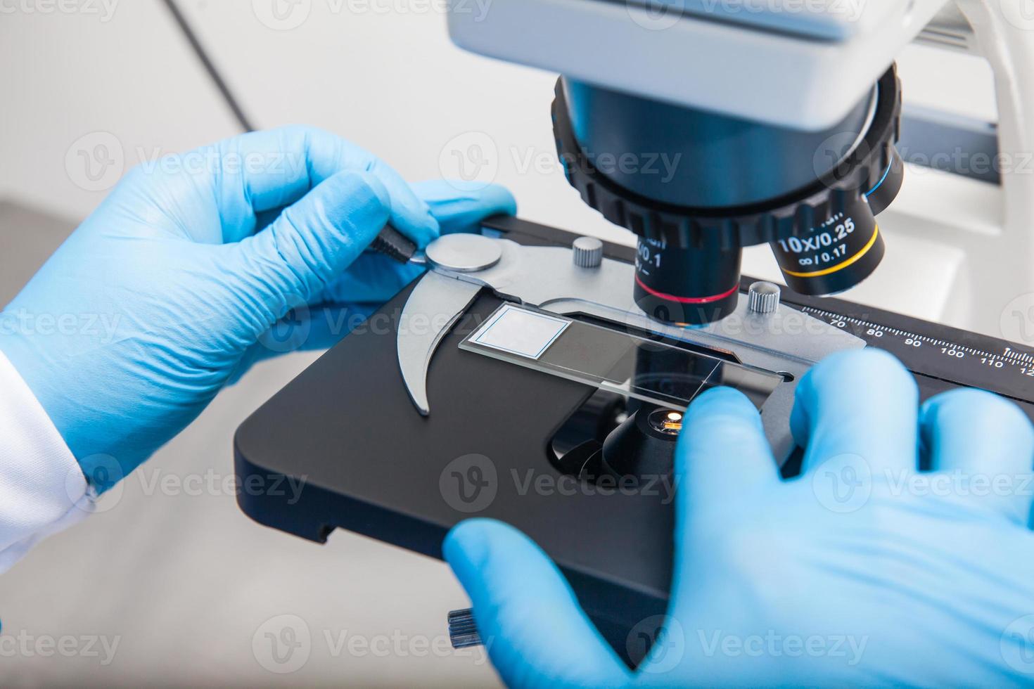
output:
[[[464,519],[508,522],[634,664],[647,649],[629,630],[667,606],[674,443],[703,390],[754,402],[787,477],[801,456],[795,386],[837,351],[887,349],[924,399],[976,386],[1034,418],[1034,349],[835,296],[879,279],[903,122],[932,130],[903,116],[903,46],[981,48],[999,75],[997,132],[937,131],[1031,150],[1018,12],[1011,0],[451,3],[461,48],[561,74],[551,117],[568,181],[636,247],[499,217],[402,251],[424,275],[238,430],[240,479],[292,477],[300,499],[242,492],[241,508],[313,541],[343,528],[432,557]],[[1030,210],[1006,178],[1014,237]],[[740,275],[742,249],[762,244],[784,285]],[[344,381],[363,395],[340,395]],[[468,613],[449,623],[458,646],[478,641]]]

